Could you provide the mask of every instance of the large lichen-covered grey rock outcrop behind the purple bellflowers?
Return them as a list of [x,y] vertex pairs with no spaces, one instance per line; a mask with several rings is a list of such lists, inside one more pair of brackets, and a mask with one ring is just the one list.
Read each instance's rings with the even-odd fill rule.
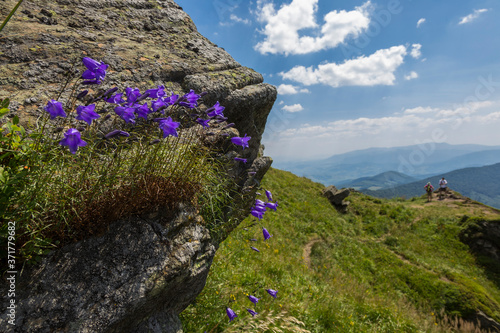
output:
[[[1,16],[16,3],[3,1]],[[218,242],[255,199],[241,193],[272,163],[259,149],[276,89],[201,36],[172,0],[25,0],[0,38],[0,98],[11,99],[22,122],[33,120],[84,56],[110,65],[102,89],[194,89],[207,92],[202,108],[226,107],[228,122],[252,137],[242,156],[248,163],[231,171],[240,185],[227,207],[235,222],[215,240],[189,204],[117,221],[18,276],[16,326],[3,312],[0,332],[180,332],[178,314],[203,289]],[[66,89],[60,99],[68,96]]]

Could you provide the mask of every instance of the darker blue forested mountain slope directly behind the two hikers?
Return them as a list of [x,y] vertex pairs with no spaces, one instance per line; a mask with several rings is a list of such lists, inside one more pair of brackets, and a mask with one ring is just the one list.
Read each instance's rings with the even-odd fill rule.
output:
[[431,182],[431,184],[437,188],[441,177],[446,178],[448,187],[451,190],[460,192],[486,205],[500,208],[500,163],[483,167],[454,170],[404,185],[376,191],[366,189],[362,190],[362,192],[379,198],[411,198],[425,194],[424,185],[427,184],[427,182]]

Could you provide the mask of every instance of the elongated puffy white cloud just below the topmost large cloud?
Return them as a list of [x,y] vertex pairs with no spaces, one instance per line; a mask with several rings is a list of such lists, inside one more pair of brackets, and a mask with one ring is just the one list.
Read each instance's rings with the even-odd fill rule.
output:
[[378,50],[374,54],[346,60],[342,64],[326,63],[316,69],[296,66],[279,75],[283,79],[300,82],[304,85],[324,84],[340,86],[393,85],[394,72],[404,62],[406,47],[393,46]]

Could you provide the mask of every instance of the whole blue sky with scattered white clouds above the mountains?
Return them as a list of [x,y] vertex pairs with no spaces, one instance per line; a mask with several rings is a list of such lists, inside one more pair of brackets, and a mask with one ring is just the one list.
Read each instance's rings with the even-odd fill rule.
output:
[[278,87],[276,162],[424,142],[500,145],[500,1],[177,0]]

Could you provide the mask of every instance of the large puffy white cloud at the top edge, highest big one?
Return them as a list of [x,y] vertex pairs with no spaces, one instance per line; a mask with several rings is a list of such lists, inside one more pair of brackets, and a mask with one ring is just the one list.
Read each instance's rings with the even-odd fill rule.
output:
[[[318,0],[292,0],[279,10],[264,0],[259,0],[257,5],[258,19],[265,23],[261,31],[265,38],[255,45],[255,49],[262,54],[307,54],[334,48],[349,37],[356,38],[370,24],[370,1],[352,11],[329,12],[321,27],[315,18]],[[315,31],[300,36],[299,31],[303,29]]]

